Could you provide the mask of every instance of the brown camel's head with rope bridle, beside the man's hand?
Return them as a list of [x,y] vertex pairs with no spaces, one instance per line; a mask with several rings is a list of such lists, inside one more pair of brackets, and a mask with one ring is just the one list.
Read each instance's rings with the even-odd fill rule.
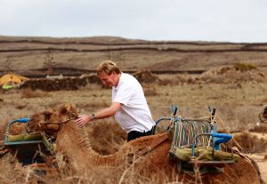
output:
[[26,126],[27,132],[45,132],[56,137],[61,124],[77,119],[77,108],[73,104],[60,104],[46,108],[43,112],[30,116]]

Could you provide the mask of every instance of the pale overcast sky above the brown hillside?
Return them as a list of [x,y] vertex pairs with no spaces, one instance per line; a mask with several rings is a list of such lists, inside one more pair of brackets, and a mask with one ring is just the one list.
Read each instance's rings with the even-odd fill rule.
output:
[[267,0],[0,0],[0,35],[267,43]]

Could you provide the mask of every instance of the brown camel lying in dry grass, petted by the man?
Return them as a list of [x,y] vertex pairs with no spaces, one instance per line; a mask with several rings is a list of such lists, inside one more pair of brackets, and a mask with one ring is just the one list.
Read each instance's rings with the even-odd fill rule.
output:
[[[42,129],[56,136],[57,152],[67,160],[71,174],[85,183],[263,183],[255,165],[244,156],[238,163],[227,164],[221,173],[179,172],[174,159],[168,156],[170,132],[129,141],[116,153],[102,156],[90,146],[85,128],[76,126],[76,118],[75,106],[63,104],[31,116],[27,129],[34,132]],[[138,156],[157,140],[163,141]]]

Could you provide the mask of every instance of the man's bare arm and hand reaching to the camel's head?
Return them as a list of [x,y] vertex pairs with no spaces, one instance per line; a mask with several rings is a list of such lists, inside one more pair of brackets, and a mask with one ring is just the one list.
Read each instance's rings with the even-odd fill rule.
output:
[[[109,108],[104,108],[101,111],[95,113],[96,119],[102,119],[109,116],[114,116],[119,108],[121,108],[121,104],[118,102],[113,102]],[[80,115],[76,120],[76,124],[78,127],[82,127],[85,124],[88,124],[93,120],[92,115]]]

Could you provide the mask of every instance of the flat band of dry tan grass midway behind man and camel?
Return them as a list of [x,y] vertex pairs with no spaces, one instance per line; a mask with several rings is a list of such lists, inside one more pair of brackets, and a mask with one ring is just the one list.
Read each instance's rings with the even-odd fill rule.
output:
[[[267,83],[166,86],[146,84],[144,92],[155,120],[160,116],[170,116],[171,104],[178,106],[179,115],[190,117],[206,116],[209,114],[208,106],[214,106],[228,128],[235,130],[245,127],[245,124],[254,125],[258,122],[258,114],[265,105]],[[91,113],[109,107],[111,96],[109,89],[95,84],[79,91],[36,92],[38,95],[28,93],[29,97],[42,95],[35,98],[21,98],[25,92],[20,90],[2,93],[1,123],[30,116],[36,111],[59,103],[76,104],[80,114]]]

